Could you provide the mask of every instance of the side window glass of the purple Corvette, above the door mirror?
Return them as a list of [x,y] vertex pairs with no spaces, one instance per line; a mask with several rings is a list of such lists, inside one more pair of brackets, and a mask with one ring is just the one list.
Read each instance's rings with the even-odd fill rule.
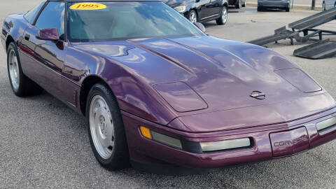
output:
[[35,26],[38,29],[57,28],[59,38],[64,40],[65,3],[50,1],[38,17]]

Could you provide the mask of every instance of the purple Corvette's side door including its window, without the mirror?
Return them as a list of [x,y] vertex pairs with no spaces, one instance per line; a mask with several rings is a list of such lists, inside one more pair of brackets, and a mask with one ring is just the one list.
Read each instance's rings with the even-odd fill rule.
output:
[[[33,25],[27,27],[22,38],[22,47],[29,56],[22,69],[29,78],[45,90],[62,97],[62,69],[66,43],[64,42],[65,3],[50,1],[38,15]],[[57,28],[59,41],[45,41],[36,38],[40,29]]]

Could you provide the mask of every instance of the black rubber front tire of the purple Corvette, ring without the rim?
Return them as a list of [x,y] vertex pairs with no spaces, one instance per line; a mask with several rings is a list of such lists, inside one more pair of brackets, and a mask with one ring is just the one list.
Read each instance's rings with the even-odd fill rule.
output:
[[[113,127],[114,127],[114,139],[115,139],[115,145],[113,147],[113,152],[112,155],[109,159],[104,159],[102,158],[99,153],[97,152],[97,149],[94,146],[94,143],[92,141],[92,134],[90,130],[90,104],[94,96],[100,95],[103,97],[109,106],[109,109],[111,111],[111,117],[113,120]],[[125,148],[125,129],[123,126],[123,121],[121,118],[120,114],[120,109],[118,107],[118,104],[116,102],[116,99],[111,95],[111,91],[109,90],[108,87],[102,84],[96,84],[92,87],[90,90],[88,96],[87,96],[87,102],[86,102],[86,113],[85,113],[85,124],[87,126],[87,132],[89,134],[90,138],[90,144],[92,147],[92,151],[94,153],[95,158],[97,158],[98,162],[103,165],[104,167],[108,169],[116,169],[116,167],[120,166],[120,163],[118,162],[119,157],[121,154],[123,154],[123,151],[127,151],[128,153],[128,148],[126,144]],[[112,165],[112,167],[111,167]],[[122,164],[121,164],[122,165]]]

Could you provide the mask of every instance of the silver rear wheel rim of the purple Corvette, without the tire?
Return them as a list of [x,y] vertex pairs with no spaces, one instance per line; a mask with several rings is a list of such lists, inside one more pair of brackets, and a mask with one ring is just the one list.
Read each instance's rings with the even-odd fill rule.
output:
[[18,63],[18,57],[16,57],[15,50],[10,49],[8,53],[8,70],[10,76],[10,83],[12,83],[13,89],[17,91],[20,86],[20,69]]

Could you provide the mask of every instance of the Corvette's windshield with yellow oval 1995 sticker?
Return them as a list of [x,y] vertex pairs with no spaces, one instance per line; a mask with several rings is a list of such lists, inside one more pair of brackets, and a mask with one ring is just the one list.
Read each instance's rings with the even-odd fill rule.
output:
[[69,41],[204,35],[186,18],[161,2],[83,4],[69,3]]

